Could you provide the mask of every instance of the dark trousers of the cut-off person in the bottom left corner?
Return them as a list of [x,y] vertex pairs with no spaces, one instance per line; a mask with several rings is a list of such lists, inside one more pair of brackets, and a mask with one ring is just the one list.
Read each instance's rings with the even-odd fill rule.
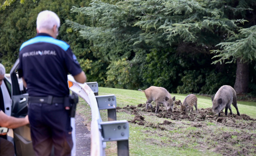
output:
[[13,143],[0,138],[0,156],[14,156],[14,153]]

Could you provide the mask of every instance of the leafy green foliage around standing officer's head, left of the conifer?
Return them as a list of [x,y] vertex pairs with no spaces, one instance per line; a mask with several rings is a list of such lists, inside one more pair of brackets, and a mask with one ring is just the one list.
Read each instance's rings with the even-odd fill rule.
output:
[[[61,20],[58,39],[67,41],[74,52],[79,55],[88,46],[88,42],[78,37],[78,32],[73,32],[65,24],[66,19],[76,22],[86,22],[85,17],[70,13],[72,6],[86,6],[89,2],[82,0],[26,0],[24,4],[15,1],[12,5],[0,10],[0,62],[9,72],[12,65],[18,59],[21,44],[36,36],[36,19],[40,11],[51,10],[56,12]],[[83,55],[84,56],[84,55]]]

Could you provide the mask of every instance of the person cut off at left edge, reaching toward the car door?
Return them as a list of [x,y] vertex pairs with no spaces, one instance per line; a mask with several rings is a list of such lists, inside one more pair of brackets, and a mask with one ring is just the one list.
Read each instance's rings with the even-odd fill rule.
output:
[[[4,80],[4,74],[5,74],[5,68],[0,63],[0,86],[3,83]],[[0,88],[0,94],[2,94],[1,88]],[[3,95],[0,95],[0,97]],[[0,98],[0,104],[4,104],[4,100]],[[0,127],[6,127],[6,128],[17,128],[20,126],[24,126],[26,124],[29,124],[28,116],[25,118],[15,118],[6,115],[0,108]],[[1,133],[0,135],[6,135],[6,133]],[[14,146],[11,142],[4,138],[0,138],[0,156],[14,156]]]

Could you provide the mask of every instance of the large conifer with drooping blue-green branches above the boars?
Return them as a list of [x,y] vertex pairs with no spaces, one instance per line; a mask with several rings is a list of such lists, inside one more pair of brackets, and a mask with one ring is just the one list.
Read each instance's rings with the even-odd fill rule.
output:
[[[105,61],[118,61],[119,57],[138,61],[139,52],[175,49],[177,53],[208,56],[212,52],[216,55],[213,63],[238,60],[239,64],[240,60],[255,60],[253,46],[242,46],[245,49],[237,50],[236,53],[241,54],[238,55],[230,49],[237,47],[226,41],[236,43],[247,31],[243,28],[254,25],[255,3],[253,0],[124,0],[113,3],[93,0],[89,7],[71,9],[89,17],[89,25],[67,23],[80,30],[81,36],[92,43],[94,55],[104,57]],[[251,39],[246,38],[245,45],[253,41],[253,35]],[[133,53],[135,57],[129,59]],[[251,57],[242,57],[247,54]],[[139,61],[143,64],[143,60]],[[239,74],[236,76],[239,78]]]

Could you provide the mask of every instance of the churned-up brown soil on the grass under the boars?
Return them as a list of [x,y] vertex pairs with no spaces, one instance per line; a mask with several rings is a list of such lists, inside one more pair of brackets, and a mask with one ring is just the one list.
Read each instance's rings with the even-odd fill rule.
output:
[[[224,126],[228,127],[234,127],[234,128],[241,128],[241,129],[249,129],[249,130],[254,130],[256,129],[256,124],[254,121],[256,119],[251,118],[250,116],[246,114],[241,114],[240,116],[233,114],[230,115],[228,114],[227,116],[225,115],[224,112],[220,113],[220,117],[218,115],[214,114],[212,112],[212,108],[201,108],[198,110],[198,113],[195,113],[195,110],[193,113],[191,112],[181,112],[180,111],[180,106],[179,105],[174,105],[173,106],[173,112],[167,112],[166,108],[161,105],[159,107],[159,113],[155,114],[156,106],[153,108],[150,108],[146,110],[146,104],[138,104],[138,107],[136,106],[129,106],[127,105],[126,107],[123,107],[122,110],[126,113],[133,114],[133,115],[141,115],[145,113],[150,113],[150,115],[155,115],[159,118],[167,118],[171,120],[176,120],[176,121],[181,121],[181,120],[188,120],[188,121],[193,121],[193,122],[201,122],[201,121],[206,121],[209,122],[209,124],[222,124]],[[137,123],[140,125],[145,125],[144,119],[137,120],[135,116],[135,119],[132,121],[132,123]],[[239,122],[239,121],[252,121],[249,123],[244,123],[244,122]],[[166,123],[160,124],[160,125],[165,125]],[[202,127],[202,124],[193,124],[191,125],[193,127]],[[153,128],[159,128],[158,126],[152,126],[152,124],[149,124],[149,127]]]

